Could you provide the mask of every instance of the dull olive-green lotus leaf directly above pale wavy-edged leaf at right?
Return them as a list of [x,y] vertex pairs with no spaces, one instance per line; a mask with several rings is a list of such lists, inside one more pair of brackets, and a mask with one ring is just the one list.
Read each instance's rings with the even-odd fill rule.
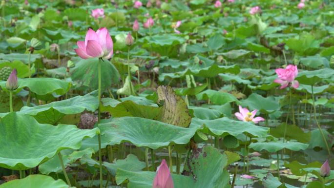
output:
[[[270,129],[270,134],[276,138],[283,137],[285,130],[285,124],[278,125],[275,128]],[[311,132],[304,132],[297,125],[287,125],[286,139],[297,140],[301,143],[308,143],[311,140]]]

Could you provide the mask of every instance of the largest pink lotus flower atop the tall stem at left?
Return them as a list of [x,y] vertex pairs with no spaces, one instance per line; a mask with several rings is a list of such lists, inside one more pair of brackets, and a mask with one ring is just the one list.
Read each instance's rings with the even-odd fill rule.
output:
[[114,52],[112,39],[105,27],[98,29],[96,33],[89,28],[84,41],[78,41],[77,45],[79,48],[74,50],[83,59],[109,59]]

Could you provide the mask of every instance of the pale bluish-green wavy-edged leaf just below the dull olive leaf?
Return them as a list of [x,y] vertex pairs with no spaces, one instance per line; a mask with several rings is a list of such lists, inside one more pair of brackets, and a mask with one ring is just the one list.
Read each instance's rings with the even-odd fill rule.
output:
[[303,144],[300,142],[288,141],[283,143],[283,141],[271,141],[251,143],[249,147],[254,149],[255,151],[267,150],[272,153],[284,148],[290,149],[292,151],[299,151],[306,149],[308,146],[308,144]]

